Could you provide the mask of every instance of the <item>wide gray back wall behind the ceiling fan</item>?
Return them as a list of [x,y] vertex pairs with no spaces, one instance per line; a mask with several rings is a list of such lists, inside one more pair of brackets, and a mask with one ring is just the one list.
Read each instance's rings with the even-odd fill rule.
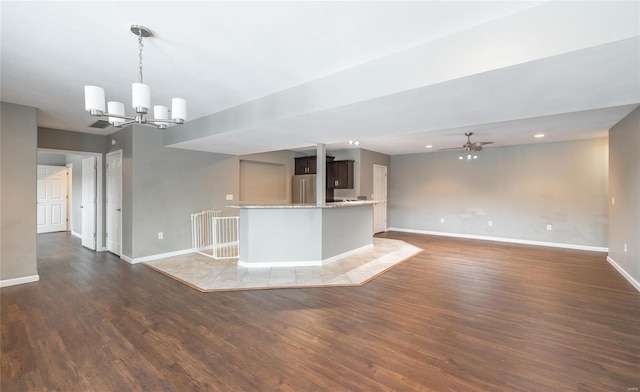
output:
[[608,246],[606,138],[457,155],[391,157],[391,228]]

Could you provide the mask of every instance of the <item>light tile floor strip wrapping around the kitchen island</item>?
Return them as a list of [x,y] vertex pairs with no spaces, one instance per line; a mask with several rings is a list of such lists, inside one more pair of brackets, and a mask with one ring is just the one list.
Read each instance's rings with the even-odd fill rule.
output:
[[203,292],[358,286],[420,252],[403,241],[374,238],[372,247],[321,267],[244,268],[237,259],[215,260],[198,253],[145,265]]

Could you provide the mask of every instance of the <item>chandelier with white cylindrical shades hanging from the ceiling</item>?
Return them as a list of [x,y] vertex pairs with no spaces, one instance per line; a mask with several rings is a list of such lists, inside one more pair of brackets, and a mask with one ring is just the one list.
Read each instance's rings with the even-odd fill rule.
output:
[[166,129],[169,123],[183,124],[187,119],[187,101],[182,98],[171,100],[171,118],[169,109],[166,106],[156,105],[153,107],[153,117],[147,118],[146,114],[151,108],[151,90],[149,86],[142,83],[142,38],[151,36],[151,30],[144,26],[131,25],[131,32],[138,37],[139,47],[139,80],[131,86],[131,106],[136,111],[135,116],[127,116],[124,112],[122,102],[108,102],[105,110],[104,89],[98,86],[84,86],[84,109],[92,116],[109,118],[109,123],[116,127],[123,127],[129,124],[151,124],[160,129]]

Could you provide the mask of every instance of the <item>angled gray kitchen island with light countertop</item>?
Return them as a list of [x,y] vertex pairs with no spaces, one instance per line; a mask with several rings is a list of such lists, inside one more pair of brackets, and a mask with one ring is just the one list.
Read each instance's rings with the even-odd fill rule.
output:
[[320,266],[373,246],[375,201],[234,205],[247,268]]

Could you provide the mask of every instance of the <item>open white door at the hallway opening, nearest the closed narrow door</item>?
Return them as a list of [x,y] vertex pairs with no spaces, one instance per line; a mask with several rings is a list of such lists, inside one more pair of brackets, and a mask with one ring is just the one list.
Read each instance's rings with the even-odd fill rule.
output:
[[96,158],[82,160],[82,246],[96,250]]

